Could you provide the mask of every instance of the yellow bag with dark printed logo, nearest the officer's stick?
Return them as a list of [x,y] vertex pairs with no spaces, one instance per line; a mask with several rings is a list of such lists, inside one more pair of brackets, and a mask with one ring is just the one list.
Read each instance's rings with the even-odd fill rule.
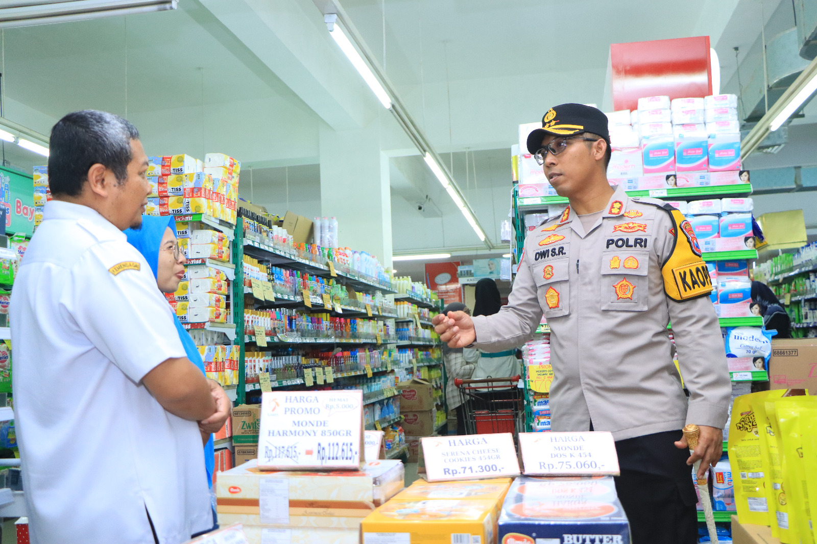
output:
[[[729,462],[734,480],[734,503],[742,524],[771,525],[771,480],[768,479],[766,398],[779,398],[785,390],[758,391],[734,399],[729,428]],[[761,415],[757,414],[761,409]],[[761,439],[763,441],[761,442]],[[767,480],[768,479],[768,480]]]

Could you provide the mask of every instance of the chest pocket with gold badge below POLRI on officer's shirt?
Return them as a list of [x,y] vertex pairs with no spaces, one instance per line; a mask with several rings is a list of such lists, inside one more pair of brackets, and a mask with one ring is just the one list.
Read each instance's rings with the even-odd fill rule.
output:
[[601,310],[644,311],[649,298],[649,251],[601,253]]

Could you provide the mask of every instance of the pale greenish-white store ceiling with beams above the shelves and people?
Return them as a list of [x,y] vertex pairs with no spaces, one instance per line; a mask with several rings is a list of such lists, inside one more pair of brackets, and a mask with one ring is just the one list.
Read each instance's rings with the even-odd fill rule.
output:
[[[341,2],[498,246],[517,126],[561,102],[603,105],[610,43],[708,34],[730,90],[732,48],[742,60],[761,23],[770,32],[788,25],[788,0]],[[127,116],[149,154],[231,154],[244,166],[243,198],[310,218],[321,210],[320,132],[377,127],[390,157],[394,251],[476,252],[479,239],[337,50],[312,0],[179,7],[5,29],[4,115],[43,133],[76,109]],[[42,163],[18,155],[11,162],[24,169]]]

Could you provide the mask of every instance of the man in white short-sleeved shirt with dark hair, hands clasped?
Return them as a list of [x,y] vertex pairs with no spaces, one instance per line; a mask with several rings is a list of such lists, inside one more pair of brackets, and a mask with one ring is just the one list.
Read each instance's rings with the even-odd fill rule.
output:
[[221,428],[229,401],[185,357],[122,232],[141,224],[147,164],[136,128],[116,115],[75,112],[51,130],[54,200],[10,310],[36,544],[175,544],[212,528],[199,428]]

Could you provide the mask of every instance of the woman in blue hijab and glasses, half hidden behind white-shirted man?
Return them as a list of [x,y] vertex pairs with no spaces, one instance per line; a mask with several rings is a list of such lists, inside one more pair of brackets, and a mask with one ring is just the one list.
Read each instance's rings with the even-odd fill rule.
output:
[[[176,220],[173,217],[142,216],[142,225],[138,230],[125,231],[127,241],[145,256],[159,291],[176,292],[185,275],[185,258],[176,242]],[[187,359],[204,372],[204,362],[190,334],[181,326],[179,319],[174,319],[181,345],[185,348]],[[205,440],[205,438],[207,438]],[[213,453],[212,435],[202,431],[204,444],[204,466],[207,469],[208,485],[212,489],[212,473],[215,470],[216,458]]]

